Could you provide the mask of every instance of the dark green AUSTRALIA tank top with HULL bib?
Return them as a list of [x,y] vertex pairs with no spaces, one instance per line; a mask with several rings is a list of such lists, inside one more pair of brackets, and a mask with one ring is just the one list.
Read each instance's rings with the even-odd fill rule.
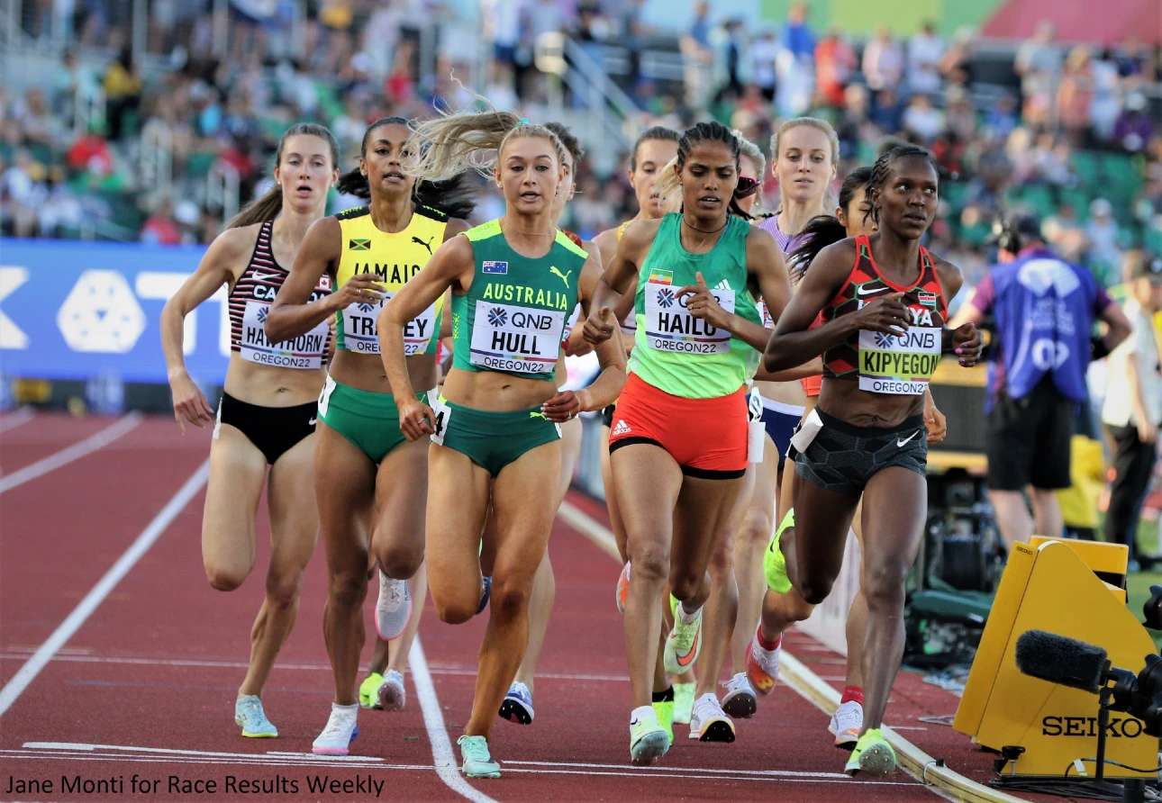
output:
[[500,221],[464,236],[475,273],[468,292],[452,296],[452,367],[552,381],[588,254],[558,230],[544,257],[522,257]]

